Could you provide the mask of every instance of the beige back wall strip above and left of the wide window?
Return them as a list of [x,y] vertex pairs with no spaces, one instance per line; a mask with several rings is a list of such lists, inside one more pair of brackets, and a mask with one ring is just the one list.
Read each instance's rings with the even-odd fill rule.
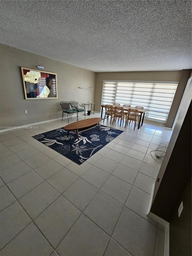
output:
[[143,71],[143,72],[111,72],[96,73],[95,110],[101,109],[103,80],[130,81],[179,81],[182,71]]

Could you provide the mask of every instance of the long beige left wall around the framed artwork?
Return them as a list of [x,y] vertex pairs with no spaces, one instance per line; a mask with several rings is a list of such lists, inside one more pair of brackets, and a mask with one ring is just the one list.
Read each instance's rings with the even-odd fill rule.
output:
[[[95,73],[0,44],[0,126],[21,126],[61,118],[61,101],[94,102]],[[21,68],[43,64],[57,73],[57,99],[25,100]],[[79,86],[93,90],[79,89]],[[25,114],[24,110],[27,110]]]

